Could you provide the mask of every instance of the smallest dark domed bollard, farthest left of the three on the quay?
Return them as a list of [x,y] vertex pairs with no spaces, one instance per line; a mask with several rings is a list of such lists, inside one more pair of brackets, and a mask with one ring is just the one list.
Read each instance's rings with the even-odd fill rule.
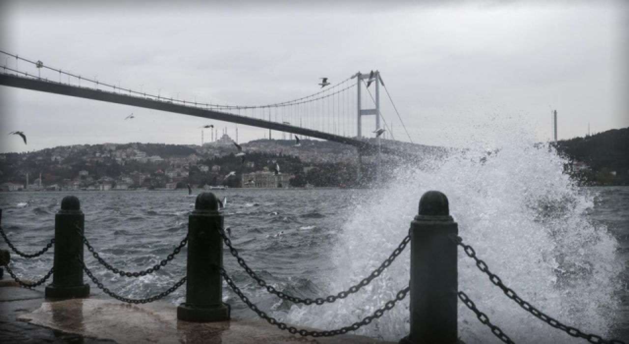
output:
[[83,258],[83,239],[77,233],[77,225],[84,233],[85,215],[75,196],[65,196],[61,209],[55,214],[55,258],[52,283],[46,287],[46,297],[88,297],[89,284],[83,282],[83,269],[77,255]]

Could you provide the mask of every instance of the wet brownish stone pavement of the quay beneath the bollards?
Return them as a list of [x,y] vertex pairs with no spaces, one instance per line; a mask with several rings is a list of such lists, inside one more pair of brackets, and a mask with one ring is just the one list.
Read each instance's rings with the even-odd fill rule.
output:
[[341,335],[303,338],[262,321],[177,321],[174,304],[125,304],[103,296],[50,301],[43,291],[0,287],[0,343],[392,343]]

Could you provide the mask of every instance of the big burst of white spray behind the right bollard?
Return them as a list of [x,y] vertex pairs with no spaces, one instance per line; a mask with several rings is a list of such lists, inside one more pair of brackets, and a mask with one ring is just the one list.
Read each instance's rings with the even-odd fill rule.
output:
[[[408,233],[421,195],[445,193],[459,235],[494,274],[523,299],[584,333],[610,335],[624,263],[615,238],[586,211],[594,194],[562,174],[565,159],[532,140],[486,144],[400,168],[387,189],[355,200],[333,260],[330,292],[357,284],[381,264]],[[495,145],[493,147],[496,147]],[[409,247],[381,277],[357,294],[323,306],[292,306],[275,316],[315,328],[348,326],[393,299],[408,285]],[[516,343],[574,343],[574,338],[526,313],[504,296],[459,249],[459,290],[466,292]],[[357,331],[399,340],[409,331],[409,299]],[[498,343],[491,330],[459,302],[459,335],[466,343]]]

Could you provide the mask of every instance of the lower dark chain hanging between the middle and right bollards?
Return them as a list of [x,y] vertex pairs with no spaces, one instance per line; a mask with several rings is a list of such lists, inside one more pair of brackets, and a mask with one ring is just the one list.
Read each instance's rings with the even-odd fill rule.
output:
[[394,308],[396,305],[396,302],[402,301],[411,289],[410,286],[402,289],[401,291],[398,292],[398,294],[396,294],[395,299],[387,301],[386,304],[384,304],[384,307],[376,309],[376,311],[373,314],[366,316],[364,319],[362,319],[362,321],[353,323],[350,326],[345,326],[343,328],[338,328],[337,330],[330,330],[330,331],[308,331],[304,329],[300,330],[293,326],[288,326],[286,325],[286,323],[277,321],[276,318],[268,316],[267,313],[260,311],[260,309],[258,309],[258,307],[255,304],[249,301],[248,297],[245,296],[242,293],[242,291],[240,291],[240,288],[238,288],[236,284],[234,284],[233,280],[231,280],[231,278],[225,272],[225,269],[223,269],[222,267],[220,269],[221,269],[221,275],[223,275],[223,279],[225,279],[225,282],[227,282],[227,284],[231,287],[231,290],[233,290],[233,292],[235,292],[238,295],[238,297],[240,297],[242,302],[245,302],[245,304],[247,304],[247,306],[249,306],[249,308],[252,311],[258,314],[260,318],[265,319],[270,325],[277,326],[277,328],[279,328],[280,330],[289,331],[292,335],[299,333],[299,335],[301,336],[331,337],[331,336],[336,336],[336,335],[344,335],[345,333],[348,333],[349,331],[356,331],[362,326],[369,325],[374,319],[380,318],[384,314],[384,312],[390,311],[392,308]]

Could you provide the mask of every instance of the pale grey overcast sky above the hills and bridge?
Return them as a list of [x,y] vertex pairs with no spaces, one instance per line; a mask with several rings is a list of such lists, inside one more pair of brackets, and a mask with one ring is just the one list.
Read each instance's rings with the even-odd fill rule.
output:
[[[617,1],[191,3],[4,1],[0,50],[162,96],[268,104],[378,69],[413,141],[629,126],[628,6]],[[0,65],[15,67],[15,59]],[[20,64],[18,67],[26,67]],[[67,80],[66,80],[67,81]],[[77,80],[73,80],[77,83]],[[0,86],[0,152],[104,142],[199,144],[208,120]],[[383,116],[407,140],[382,97]],[[135,121],[125,121],[134,113]],[[227,127],[233,136],[235,125]],[[21,138],[6,135],[21,130]],[[239,141],[265,130],[238,126]],[[512,131],[515,130],[515,131]],[[6,132],[6,133],[4,133]]]

